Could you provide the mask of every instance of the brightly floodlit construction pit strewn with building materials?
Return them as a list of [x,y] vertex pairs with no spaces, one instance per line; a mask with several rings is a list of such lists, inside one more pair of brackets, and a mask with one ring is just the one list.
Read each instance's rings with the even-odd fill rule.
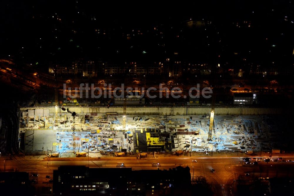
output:
[[269,152],[281,145],[278,125],[267,116],[214,115],[209,139],[211,117],[206,115],[118,115],[72,110],[21,109],[20,149],[24,153],[57,152],[59,156],[87,156],[89,152],[93,157],[114,152],[177,150]]

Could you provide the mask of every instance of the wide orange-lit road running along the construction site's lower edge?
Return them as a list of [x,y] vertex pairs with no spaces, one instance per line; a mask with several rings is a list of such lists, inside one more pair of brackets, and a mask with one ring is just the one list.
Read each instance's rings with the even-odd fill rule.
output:
[[[29,172],[30,176],[33,173],[38,173],[38,185],[51,186],[46,184],[49,181],[46,175],[53,177],[53,170],[57,170],[61,165],[86,165],[91,167],[116,167],[118,162],[123,162],[126,167],[131,167],[132,170],[153,170],[158,169],[152,167],[152,163],[160,163],[159,169],[168,170],[177,166],[190,167],[191,179],[197,176],[204,176],[208,183],[211,183],[212,189],[222,195],[229,195],[233,187],[234,180],[253,180],[256,177],[293,177],[291,172],[293,162],[259,162],[258,165],[245,164],[241,157],[157,157],[143,158],[137,160],[136,157],[117,157],[117,158],[51,158],[51,160],[35,157],[19,157],[13,156],[5,161],[6,171],[17,169],[20,172]],[[0,169],[4,170],[4,157],[1,157]],[[197,159],[197,162],[192,160]],[[291,159],[291,158],[287,158]],[[293,158],[292,158],[293,159]],[[211,169],[216,172],[212,173]],[[249,176],[245,176],[249,173]],[[34,177],[31,177],[34,178]],[[192,179],[193,180],[193,179]],[[45,183],[43,183],[45,182]],[[222,189],[220,185],[224,185]]]

